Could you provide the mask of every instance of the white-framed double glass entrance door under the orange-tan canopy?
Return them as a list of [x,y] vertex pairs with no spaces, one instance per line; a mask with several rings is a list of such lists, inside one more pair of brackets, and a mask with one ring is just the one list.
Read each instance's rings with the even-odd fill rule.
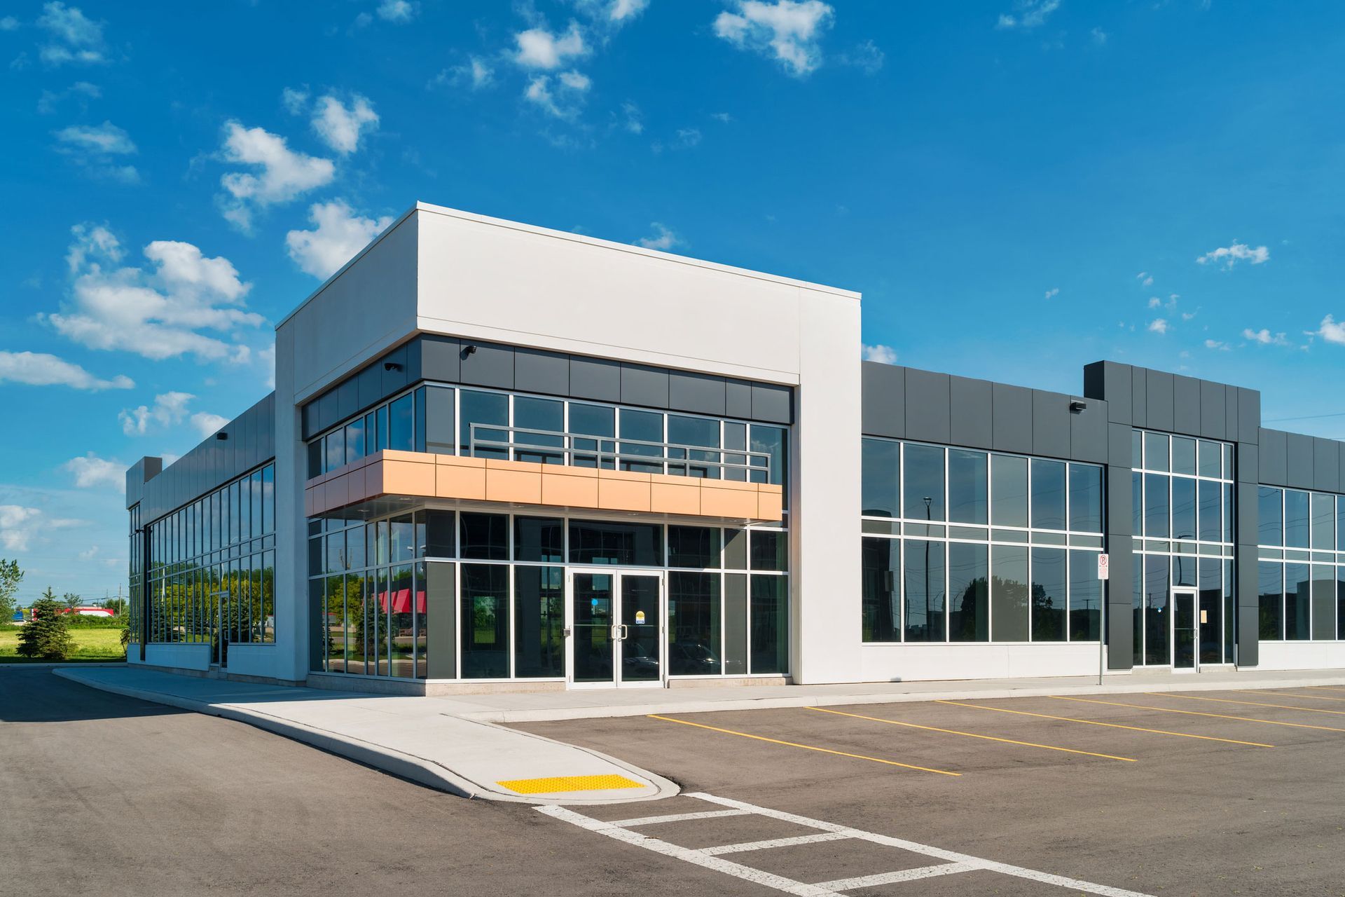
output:
[[570,572],[570,683],[663,683],[663,577]]

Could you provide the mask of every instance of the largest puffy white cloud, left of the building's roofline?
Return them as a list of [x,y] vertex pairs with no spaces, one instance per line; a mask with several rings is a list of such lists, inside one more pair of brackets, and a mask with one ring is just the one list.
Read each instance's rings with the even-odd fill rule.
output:
[[106,227],[82,225],[71,233],[75,243],[66,256],[74,277],[71,301],[39,320],[89,348],[155,360],[182,355],[247,359],[246,346],[202,332],[225,335],[262,323],[261,315],[245,311],[252,284],[239,280],[227,258],[207,258],[191,243],[155,241],[144,249],[152,270],[113,268],[122,251]]

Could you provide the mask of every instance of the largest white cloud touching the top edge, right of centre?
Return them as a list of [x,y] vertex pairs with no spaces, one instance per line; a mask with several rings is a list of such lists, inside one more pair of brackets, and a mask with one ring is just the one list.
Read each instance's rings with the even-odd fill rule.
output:
[[822,0],[736,0],[737,12],[714,19],[714,34],[734,47],[773,56],[802,78],[822,65],[819,32],[831,27],[834,9]]

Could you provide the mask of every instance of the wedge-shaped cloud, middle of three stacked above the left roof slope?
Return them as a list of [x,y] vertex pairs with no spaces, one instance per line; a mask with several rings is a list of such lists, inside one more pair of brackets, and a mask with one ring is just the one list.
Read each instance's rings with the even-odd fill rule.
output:
[[222,202],[225,218],[245,231],[252,229],[254,210],[289,202],[336,178],[336,165],[330,159],[295,152],[284,137],[262,128],[243,128],[237,121],[225,124],[221,153],[225,161],[257,169],[231,171],[219,179],[229,194]]

